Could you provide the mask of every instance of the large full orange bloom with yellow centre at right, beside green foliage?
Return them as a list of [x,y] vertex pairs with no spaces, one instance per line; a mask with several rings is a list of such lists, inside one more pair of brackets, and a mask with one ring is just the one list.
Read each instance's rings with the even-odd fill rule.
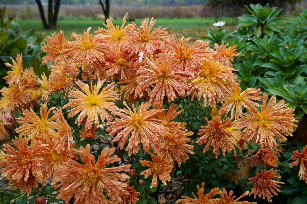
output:
[[[284,100],[276,103],[276,97],[273,95],[267,102],[268,95],[262,96],[261,112],[251,104],[247,104],[247,113],[241,117],[236,124],[238,129],[245,128],[241,136],[251,141],[251,144],[257,143],[260,147],[271,149],[276,147],[279,142],[285,142],[286,136],[292,136],[293,128],[297,127],[294,122],[294,109],[287,107]],[[267,102],[267,103],[266,103]]]

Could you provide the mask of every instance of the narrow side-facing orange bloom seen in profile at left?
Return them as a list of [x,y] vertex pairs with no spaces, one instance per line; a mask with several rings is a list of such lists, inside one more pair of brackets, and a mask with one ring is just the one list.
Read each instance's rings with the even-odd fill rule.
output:
[[54,127],[56,128],[56,137],[59,138],[56,143],[57,150],[64,150],[65,141],[67,138],[68,150],[70,149],[70,144],[72,143],[72,128],[67,124],[62,109],[56,108],[53,110],[54,115],[56,116],[56,122],[54,123]]

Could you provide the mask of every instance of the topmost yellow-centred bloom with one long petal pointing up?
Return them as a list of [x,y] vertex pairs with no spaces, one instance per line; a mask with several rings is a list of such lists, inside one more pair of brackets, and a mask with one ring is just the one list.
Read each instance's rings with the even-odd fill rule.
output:
[[102,34],[104,39],[106,39],[108,43],[111,43],[111,45],[115,47],[125,45],[127,43],[128,31],[131,29],[132,26],[132,24],[128,24],[126,27],[124,27],[127,15],[128,13],[126,13],[124,18],[122,19],[121,27],[119,27],[118,25],[114,26],[112,20],[107,19],[107,25],[103,24],[104,26],[107,27],[107,30],[98,27],[98,30],[95,31],[95,33]]

